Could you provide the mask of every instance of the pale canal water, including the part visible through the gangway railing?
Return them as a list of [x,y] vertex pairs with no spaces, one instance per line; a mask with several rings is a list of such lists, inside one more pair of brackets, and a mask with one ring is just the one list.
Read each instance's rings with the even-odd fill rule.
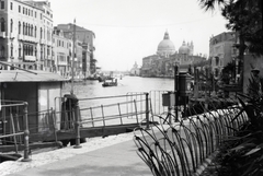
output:
[[[160,92],[174,90],[173,79],[124,77],[122,79],[118,78],[117,82],[117,86],[107,87],[103,87],[102,82],[98,80],[87,80],[73,84],[73,93],[80,99],[79,106],[82,119],[89,121],[95,118],[111,118],[116,115],[127,117],[127,114],[144,112],[146,110],[146,96],[141,93],[149,93],[149,96],[151,96],[152,92],[159,92],[155,98],[151,98],[155,99],[155,103],[152,103],[150,107],[155,110],[161,110],[157,108],[158,105],[161,104]],[[70,90],[71,83],[66,83],[62,93],[69,94]],[[136,97],[134,97],[134,95],[116,97],[136,93],[139,94],[136,95]],[[158,102],[158,104],[156,104],[156,102]],[[134,118],[135,115],[128,115],[128,118],[130,117]],[[138,116],[136,115],[136,117]],[[140,114],[140,118],[142,117],[144,114]],[[89,126],[91,126],[91,124],[89,124]]]

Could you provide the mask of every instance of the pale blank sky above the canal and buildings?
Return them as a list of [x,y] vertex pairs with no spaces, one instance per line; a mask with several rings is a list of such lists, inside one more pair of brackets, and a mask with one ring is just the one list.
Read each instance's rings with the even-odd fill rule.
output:
[[49,0],[54,26],[73,23],[95,33],[95,59],[103,70],[130,70],[155,55],[165,31],[175,46],[194,43],[209,54],[209,38],[226,30],[220,12],[204,12],[197,0]]

